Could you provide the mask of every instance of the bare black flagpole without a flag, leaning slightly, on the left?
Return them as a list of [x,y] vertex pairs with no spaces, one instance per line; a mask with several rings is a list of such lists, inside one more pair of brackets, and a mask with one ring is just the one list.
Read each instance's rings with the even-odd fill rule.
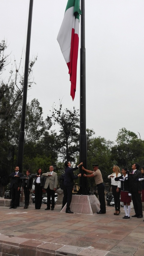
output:
[[33,8],[33,0],[30,0],[28,30],[27,30],[27,39],[26,39],[26,59],[25,59],[23,96],[22,96],[22,114],[21,114],[21,125],[20,125],[20,133],[19,133],[18,159],[17,159],[17,166],[19,166],[20,172],[22,172],[24,141],[25,141],[26,101],[27,101],[28,75],[29,75],[29,53],[30,53],[31,27],[32,27],[32,8]]

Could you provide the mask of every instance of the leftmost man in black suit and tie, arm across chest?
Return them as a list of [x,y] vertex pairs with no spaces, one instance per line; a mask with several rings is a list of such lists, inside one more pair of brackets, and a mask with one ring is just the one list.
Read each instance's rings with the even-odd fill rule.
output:
[[19,198],[20,198],[20,187],[22,185],[22,179],[20,180],[20,177],[22,177],[22,173],[19,172],[19,167],[16,166],[15,172],[11,173],[9,175],[11,177],[10,182],[10,190],[11,190],[11,206],[10,209],[16,209],[16,207],[19,205]]

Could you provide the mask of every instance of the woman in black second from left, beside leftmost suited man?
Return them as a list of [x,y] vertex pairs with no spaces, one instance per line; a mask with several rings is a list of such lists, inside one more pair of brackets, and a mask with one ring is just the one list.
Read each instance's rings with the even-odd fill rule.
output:
[[20,179],[22,179],[22,187],[25,195],[25,206],[23,208],[27,209],[29,207],[29,195],[32,189],[33,178],[30,176],[30,171],[27,170],[26,175],[20,177]]

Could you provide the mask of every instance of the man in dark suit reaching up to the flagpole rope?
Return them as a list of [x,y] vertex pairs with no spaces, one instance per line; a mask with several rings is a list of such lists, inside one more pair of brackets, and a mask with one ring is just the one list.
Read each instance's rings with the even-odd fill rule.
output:
[[71,203],[71,199],[72,199],[72,190],[73,190],[73,185],[74,179],[77,179],[78,177],[81,177],[81,173],[79,173],[78,175],[74,175],[73,171],[78,169],[80,165],[82,165],[83,163],[80,163],[78,166],[71,168],[71,164],[70,162],[66,161],[64,163],[64,166],[66,167],[64,170],[65,173],[65,177],[64,177],[64,187],[65,187],[65,191],[64,191],[64,197],[63,197],[63,202],[62,205],[64,206],[64,202],[67,202],[67,207],[66,207],[66,213],[73,213],[70,211],[70,203]]

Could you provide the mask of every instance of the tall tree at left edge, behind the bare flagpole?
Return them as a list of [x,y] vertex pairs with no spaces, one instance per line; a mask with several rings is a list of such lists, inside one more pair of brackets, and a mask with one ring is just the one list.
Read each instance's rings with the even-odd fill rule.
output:
[[[0,43],[0,73],[4,71],[4,68],[8,63],[8,56],[4,54],[6,48],[6,43],[3,40]],[[32,71],[36,59],[37,57],[29,62],[29,88],[34,83]],[[24,79],[24,74],[23,72],[21,74],[20,71],[21,60],[19,64],[16,64],[16,60],[14,61],[15,64],[10,70],[10,76],[8,77],[7,82],[3,79],[0,80],[0,170],[2,174],[6,174],[6,177],[8,177],[11,171],[7,160],[9,146],[13,145],[15,152],[18,146],[17,142],[19,137]],[[13,69],[15,69],[15,71],[13,71]],[[0,181],[2,193],[4,191],[3,187],[7,185],[7,182],[7,178],[1,179]],[[0,194],[0,196],[3,196],[3,194]]]

